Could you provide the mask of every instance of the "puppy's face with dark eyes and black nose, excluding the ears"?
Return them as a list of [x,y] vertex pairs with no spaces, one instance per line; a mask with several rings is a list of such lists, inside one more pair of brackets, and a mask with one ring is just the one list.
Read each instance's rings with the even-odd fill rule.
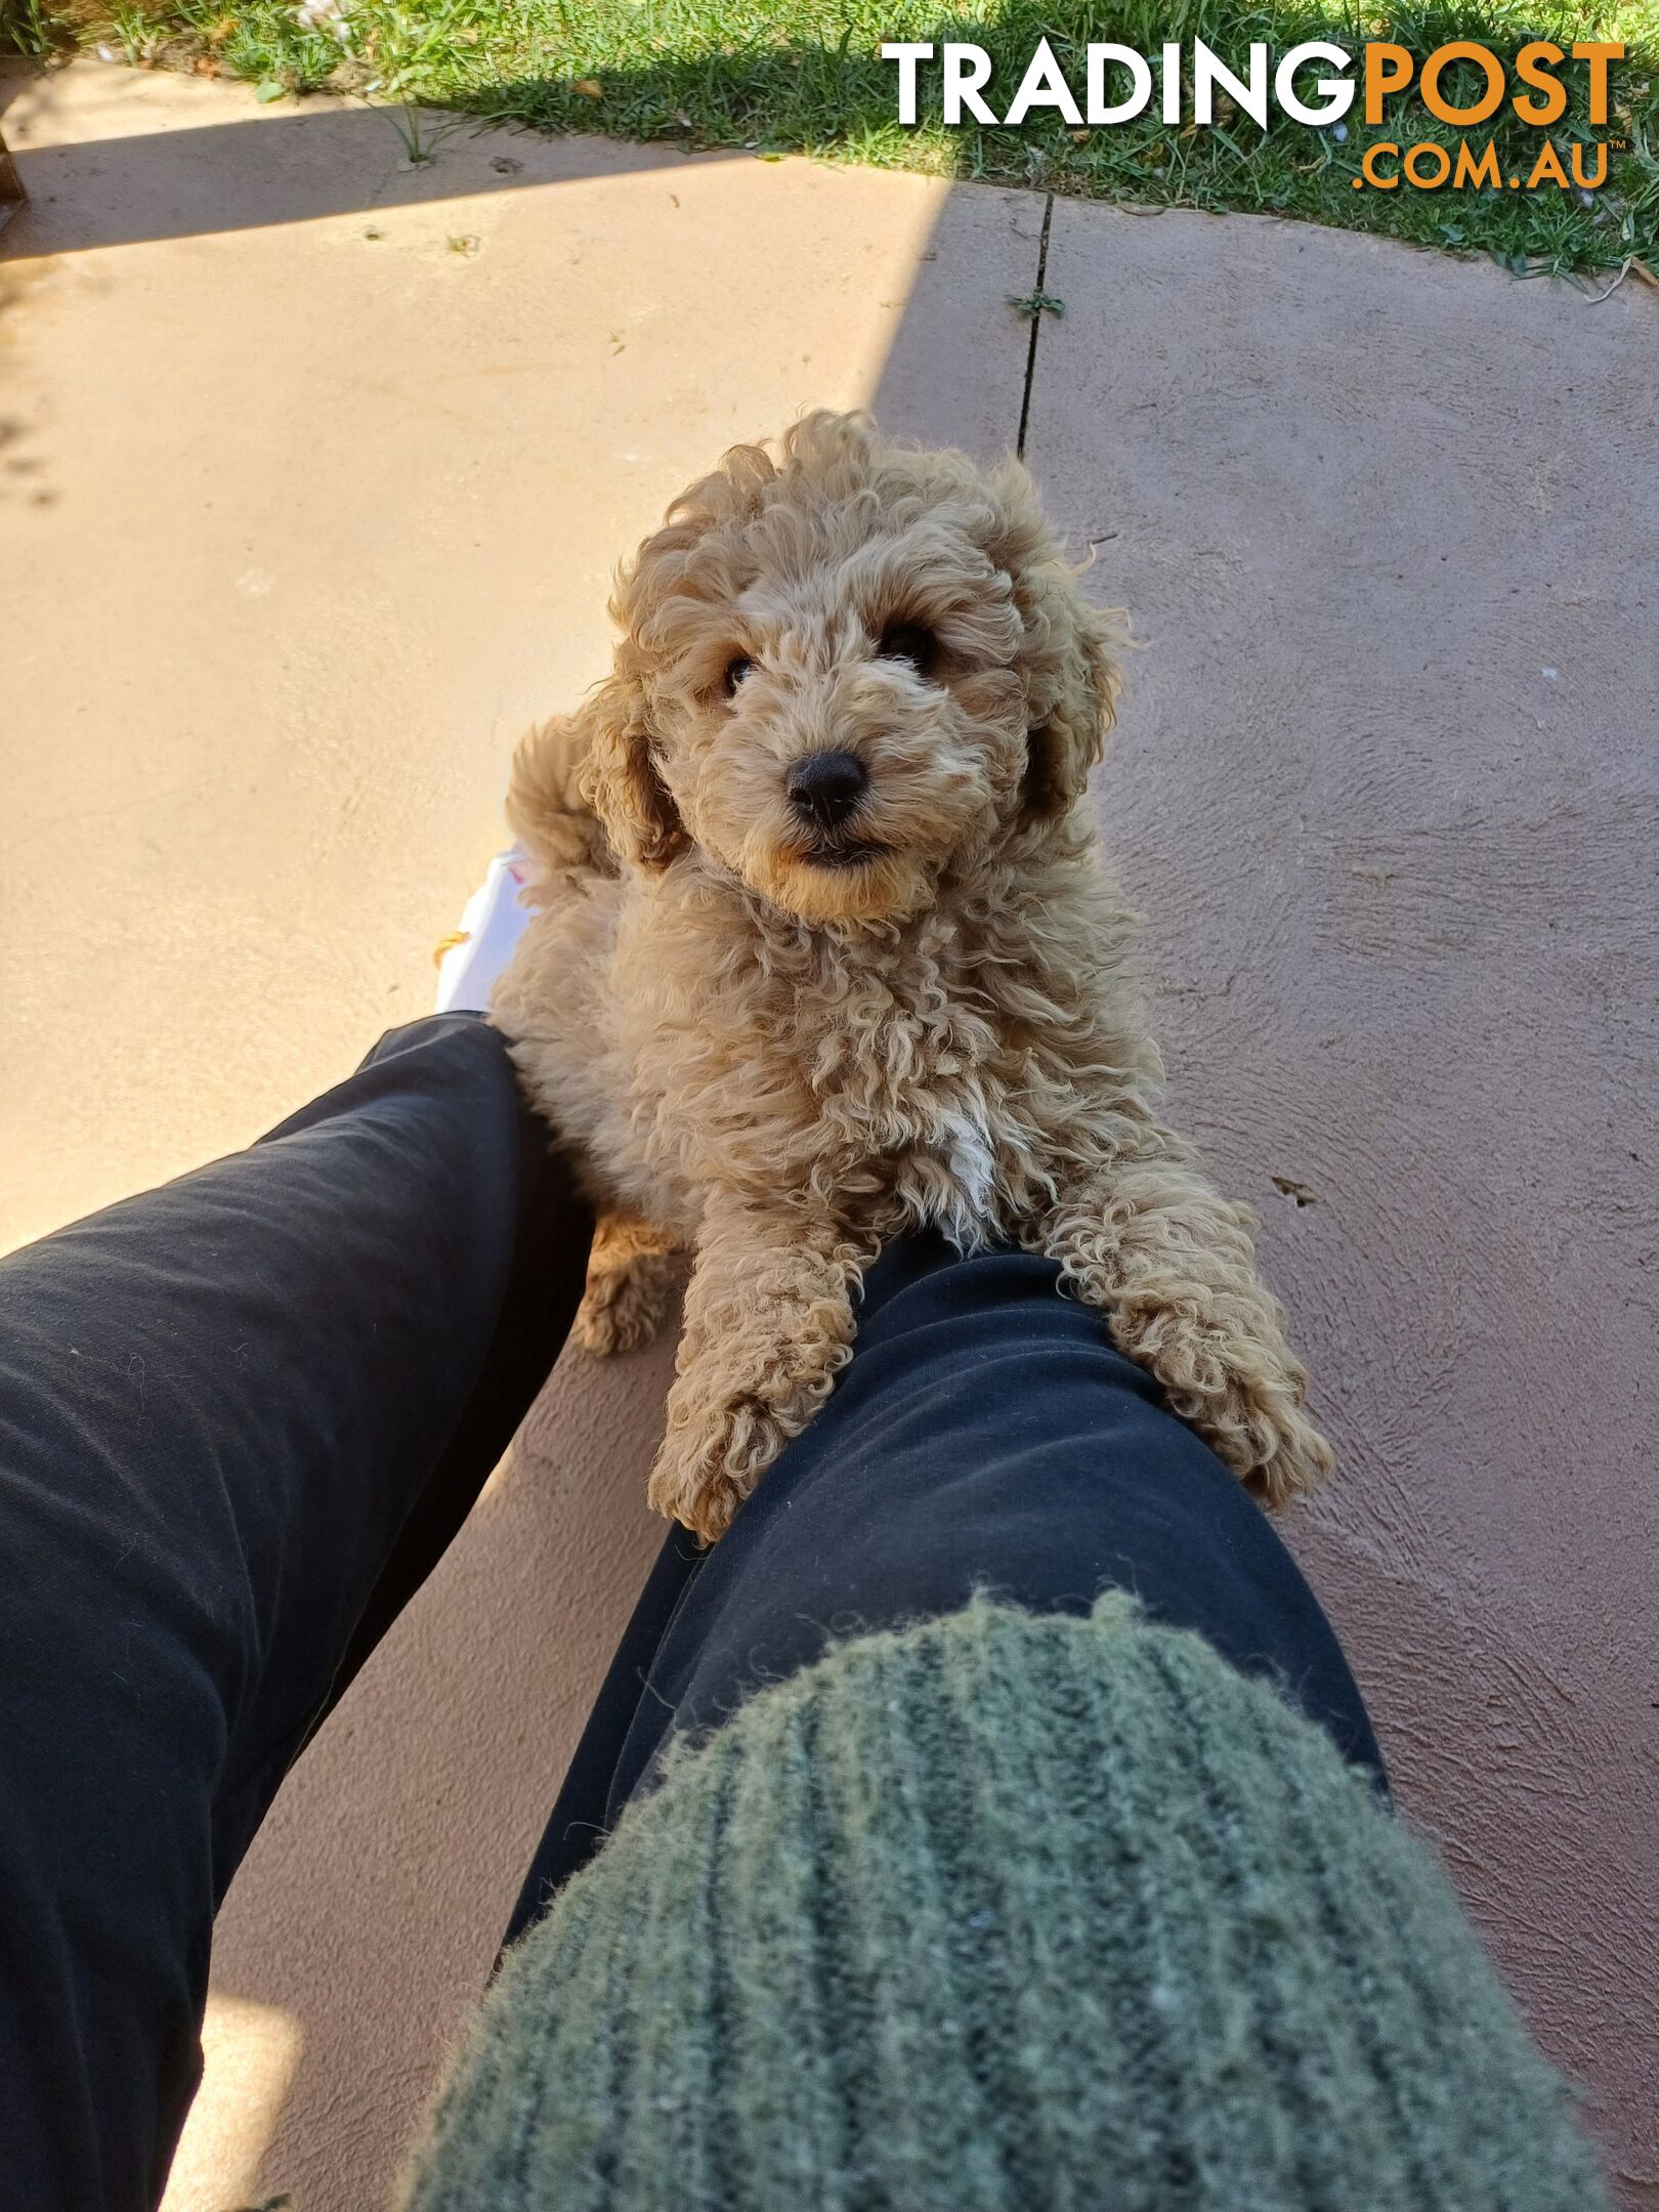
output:
[[[874,502],[872,502],[874,507]],[[1020,617],[938,504],[710,533],[646,626],[686,834],[805,922],[925,905],[1020,803]]]

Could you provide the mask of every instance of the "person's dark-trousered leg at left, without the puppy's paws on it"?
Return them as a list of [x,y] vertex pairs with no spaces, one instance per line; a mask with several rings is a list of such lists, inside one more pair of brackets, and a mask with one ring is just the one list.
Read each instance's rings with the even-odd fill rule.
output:
[[502,1040],[383,1040],[0,1263],[0,2168],[155,2201],[212,1913],[546,1376],[588,1219]]

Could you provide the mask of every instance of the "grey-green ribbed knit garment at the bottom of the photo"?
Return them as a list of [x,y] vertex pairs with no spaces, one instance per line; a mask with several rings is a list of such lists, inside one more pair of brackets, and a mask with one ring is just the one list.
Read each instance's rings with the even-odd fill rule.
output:
[[1121,1599],[872,1635],[515,1947],[409,2212],[1557,2212],[1566,2090],[1422,1845]]

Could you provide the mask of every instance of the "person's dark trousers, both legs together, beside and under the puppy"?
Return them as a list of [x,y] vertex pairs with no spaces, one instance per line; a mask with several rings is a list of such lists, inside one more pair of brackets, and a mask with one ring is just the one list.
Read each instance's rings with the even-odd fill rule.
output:
[[[588,1232],[500,1040],[447,1015],[252,1150],[0,1263],[9,2212],[157,2199],[212,1913],[557,1356]],[[730,1535],[668,1537],[513,1929],[670,1725],[854,1624],[1106,1584],[1279,1679],[1380,1778],[1279,1537],[1053,1270],[896,1248],[836,1396]]]

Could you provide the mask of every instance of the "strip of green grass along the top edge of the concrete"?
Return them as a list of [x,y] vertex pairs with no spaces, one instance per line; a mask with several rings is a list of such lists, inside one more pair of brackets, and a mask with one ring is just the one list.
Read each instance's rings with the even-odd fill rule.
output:
[[[0,11],[24,51],[102,40],[135,62],[248,77],[265,97],[332,86],[542,131],[739,146],[761,157],[807,153],[1144,206],[1294,215],[1493,254],[1517,276],[1575,276],[1593,290],[1632,268],[1659,274],[1659,0],[1586,0],[1577,9],[1564,0],[1407,0],[1376,13],[1358,0],[969,0],[956,13],[918,0],[356,0],[345,44],[301,29],[283,0],[0,0]],[[993,104],[1004,108],[1042,35],[1077,86],[1091,38],[1152,53],[1164,40],[1206,38],[1239,69],[1254,38],[1274,55],[1303,38],[1332,38],[1349,51],[1391,38],[1418,58],[1460,38],[1504,58],[1528,38],[1564,46],[1575,38],[1624,40],[1630,60],[1613,71],[1613,122],[1590,131],[1584,69],[1568,64],[1571,106],[1551,137],[1564,166],[1573,137],[1626,144],[1586,204],[1575,190],[1354,190],[1369,139],[1440,137],[1455,148],[1458,133],[1416,97],[1374,131],[1356,104],[1345,137],[1292,124],[1276,108],[1267,133],[1243,115],[1199,131],[1166,128],[1150,113],[1079,135],[1053,115],[1020,131],[945,131],[936,122],[902,131],[894,119],[896,71],[878,60],[883,40],[987,46]],[[1471,100],[1475,88],[1473,73],[1462,93],[1458,73],[1447,77],[1451,97]],[[1469,135],[1475,146],[1493,135],[1511,170],[1531,168],[1544,133],[1504,108]]]

